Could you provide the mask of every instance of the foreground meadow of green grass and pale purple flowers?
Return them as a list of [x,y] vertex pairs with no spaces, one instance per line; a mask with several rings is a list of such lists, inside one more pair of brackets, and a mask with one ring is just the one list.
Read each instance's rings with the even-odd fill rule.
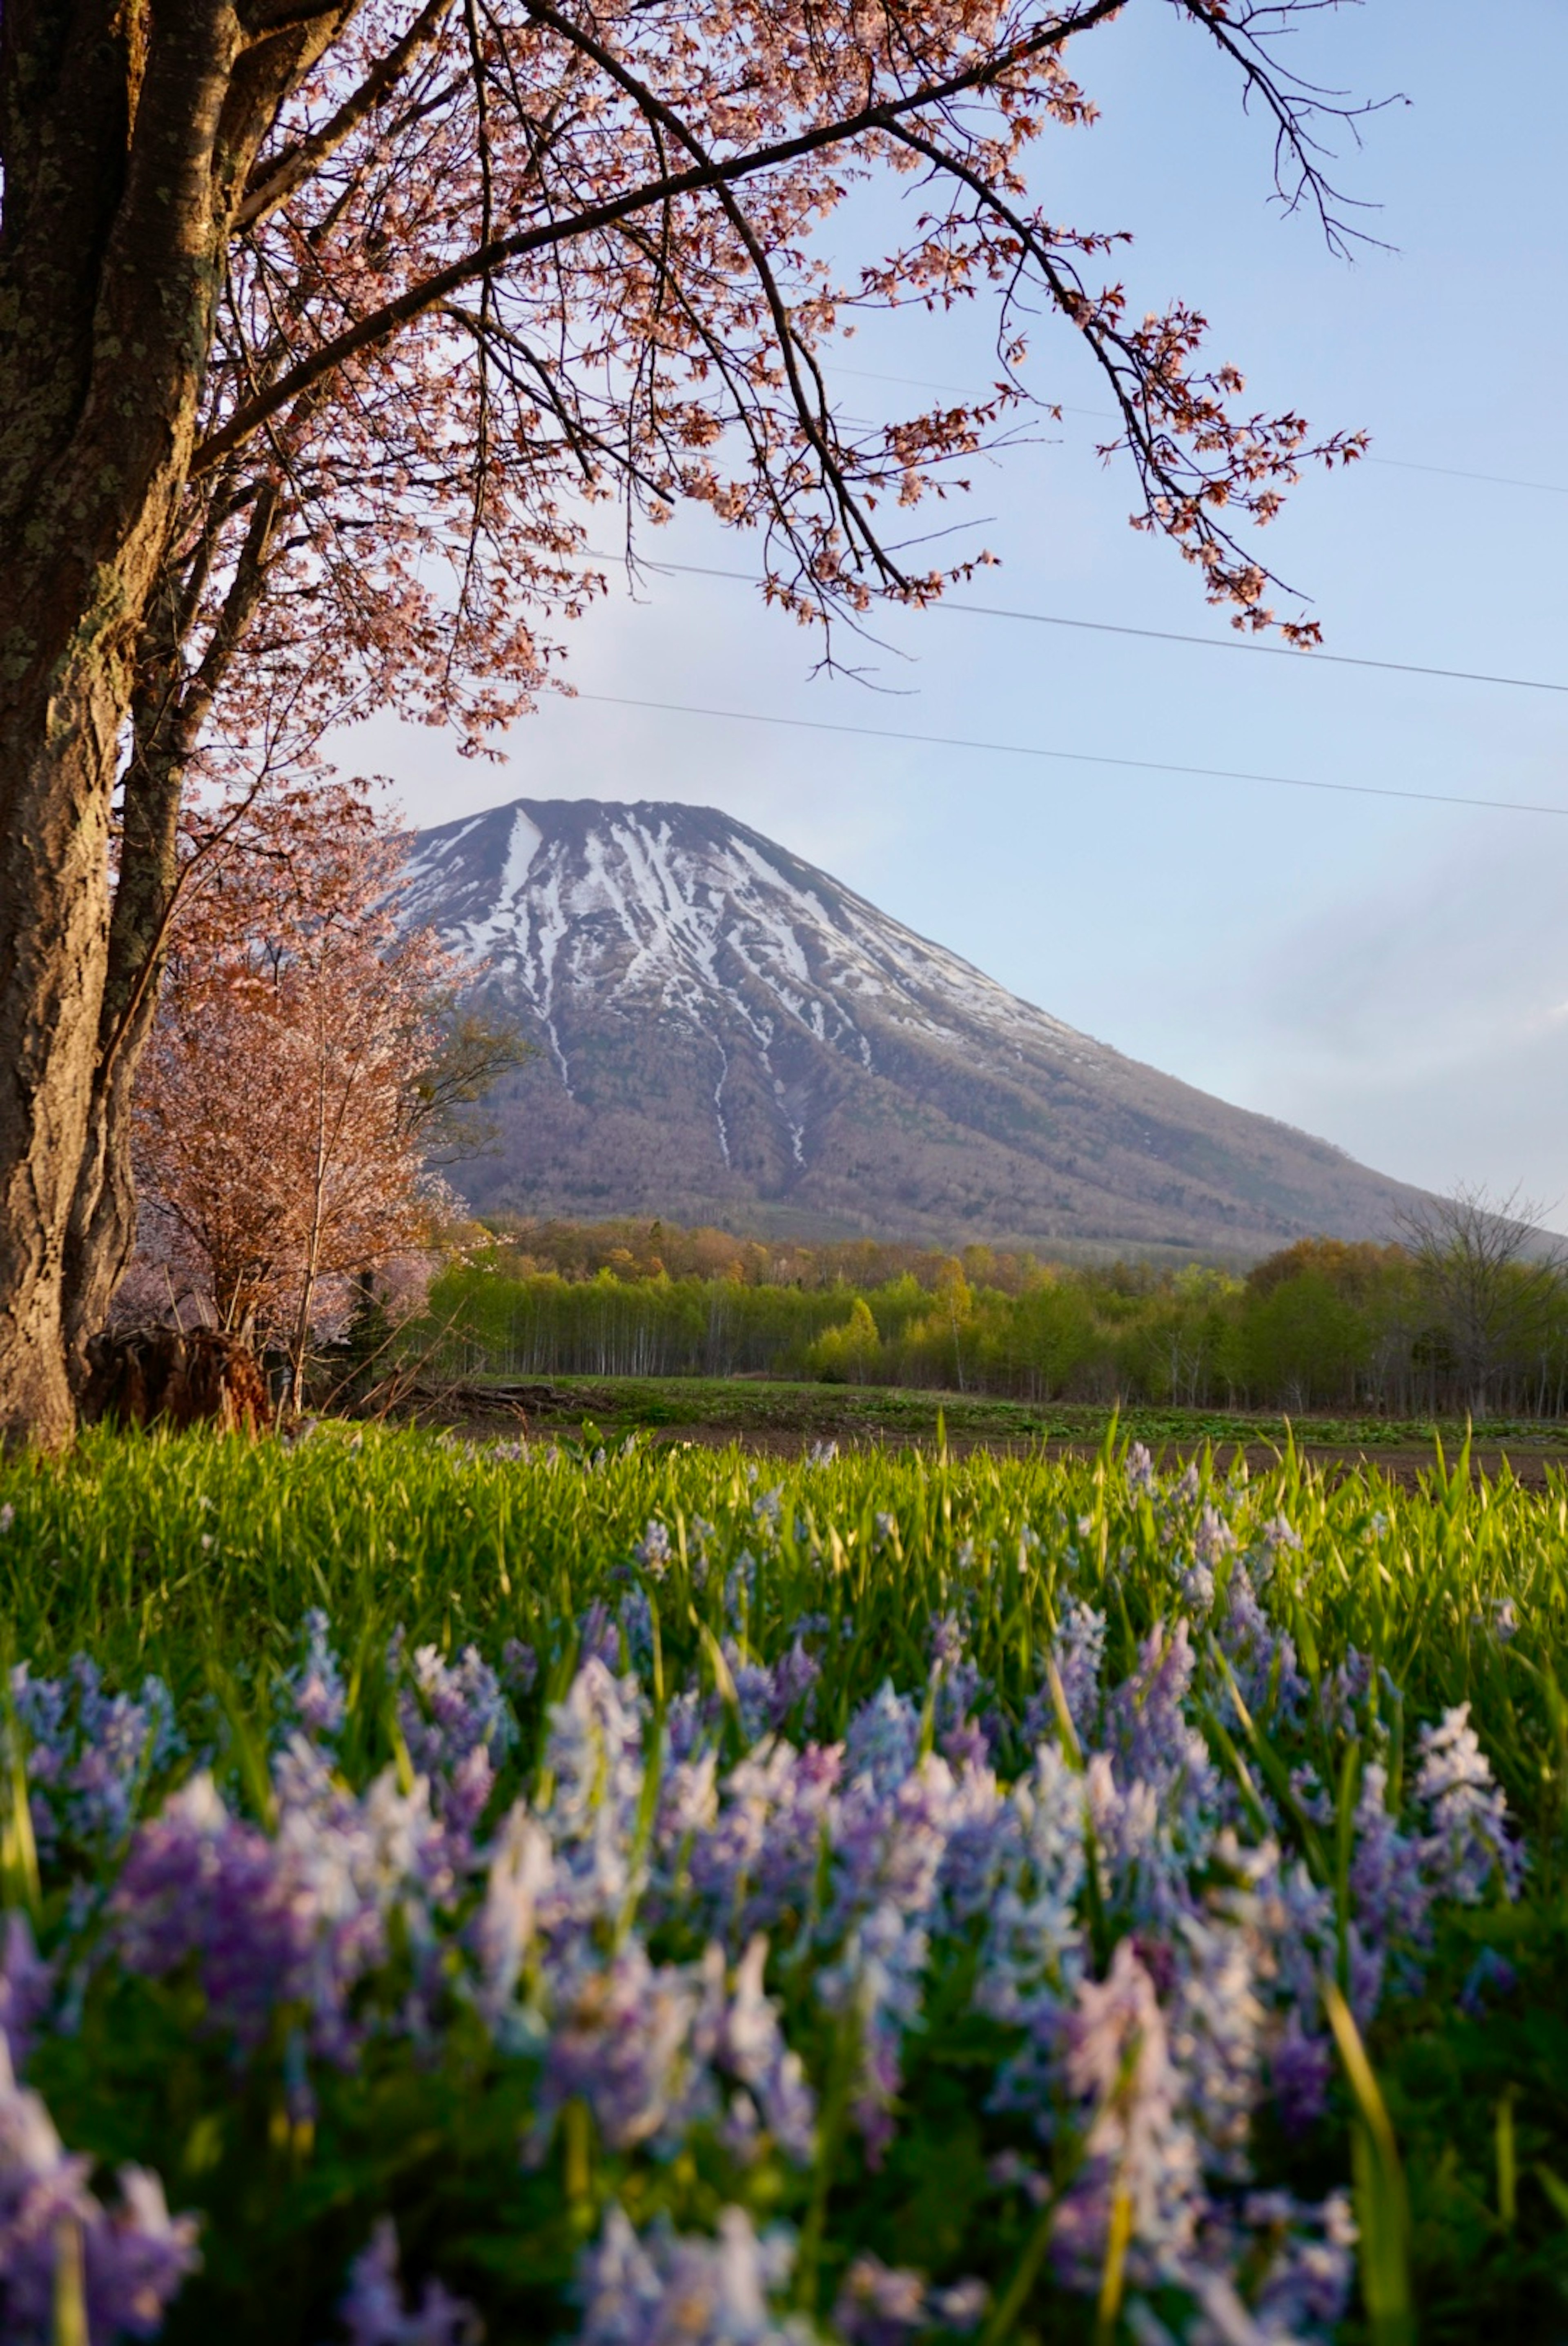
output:
[[0,1469],[0,2339],[1568,2332],[1568,1492]]

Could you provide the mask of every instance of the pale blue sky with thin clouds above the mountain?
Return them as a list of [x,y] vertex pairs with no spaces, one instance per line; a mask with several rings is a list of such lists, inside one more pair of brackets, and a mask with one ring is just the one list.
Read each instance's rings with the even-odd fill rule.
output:
[[[1326,647],[1568,683],[1561,89],[1568,12],[1366,0],[1298,42],[1317,80],[1399,94],[1340,181],[1392,246],[1336,260],[1270,204],[1263,124],[1160,0],[1082,45],[1103,108],[1038,150],[1047,209],[1129,228],[1136,310],[1185,296],[1258,406],[1366,427],[1378,462],[1303,481],[1261,540]],[[984,385],[979,319],[861,328],[852,413]],[[1033,382],[1099,406],[1066,328]],[[1056,446],[981,467],[965,521],[1002,568],[976,601],[1223,640],[1195,572],[1127,528],[1129,474],[1068,415]],[[1437,467],[1437,469],[1420,469]],[[1444,469],[1446,467],[1446,469]],[[1540,488],[1458,479],[1495,474]],[[946,518],[953,518],[948,514]],[[704,516],[669,558],[749,568]],[[897,615],[878,683],[812,678],[812,645],[746,586],[669,577],[570,633],[570,676],[648,697],[1063,751],[1542,800],[1568,809],[1568,694]],[[904,655],[904,657],[894,657]],[[343,762],[390,772],[415,823],[502,798],[718,805],[1061,1018],[1387,1173],[1514,1182],[1568,1227],[1568,816],[1030,762],[554,701],[500,767],[369,725]]]

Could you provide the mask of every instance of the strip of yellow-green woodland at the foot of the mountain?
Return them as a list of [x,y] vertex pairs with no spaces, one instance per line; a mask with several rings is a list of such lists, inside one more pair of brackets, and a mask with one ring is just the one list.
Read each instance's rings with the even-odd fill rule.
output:
[[1246,1274],[1054,1264],[667,1222],[474,1234],[418,1340],[462,1375],[775,1375],[1021,1401],[1561,1417],[1568,1264],[1483,1196],[1385,1246],[1303,1239]]

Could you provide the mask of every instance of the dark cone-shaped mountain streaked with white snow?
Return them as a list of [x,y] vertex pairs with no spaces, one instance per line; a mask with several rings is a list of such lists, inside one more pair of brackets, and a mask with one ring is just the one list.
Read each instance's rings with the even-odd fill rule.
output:
[[528,800],[411,842],[408,915],[540,1044],[479,1208],[1256,1253],[1411,1199],[1077,1035],[711,807]]

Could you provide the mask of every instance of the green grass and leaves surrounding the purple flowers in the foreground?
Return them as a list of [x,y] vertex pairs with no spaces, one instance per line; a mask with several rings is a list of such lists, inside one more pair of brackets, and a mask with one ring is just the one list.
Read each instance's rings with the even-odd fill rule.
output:
[[[782,1652],[791,1621],[824,1602],[854,1621],[824,1687],[824,1734],[887,1675],[918,1682],[922,1626],[955,1602],[967,1607],[972,1654],[1000,1715],[1016,1720],[1070,1595],[1106,1607],[1115,1673],[1167,1598],[1148,1508],[1110,1445],[1082,1464],[906,1452],[770,1462],[763,1476],[779,1487],[782,1537],[758,1567],[753,1649]],[[1211,1476],[1204,1462],[1199,1478]],[[160,1670],[192,1745],[216,1755],[228,1797],[256,1813],[249,1743],[265,1734],[310,1605],[333,1616],[350,1668],[343,1752],[345,1771],[364,1781],[394,1757],[376,1661],[394,1621],[446,1654],[474,1640],[495,1656],[507,1638],[559,1654],[563,1623],[599,1595],[615,1602],[615,1574],[650,1518],[671,1527],[676,1560],[697,1518],[714,1525],[716,1553],[735,1553],[753,1537],[758,1487],[758,1462],[742,1450],[634,1443],[606,1455],[589,1440],[580,1452],[516,1457],[420,1433],[350,1438],[336,1426],[293,1447],[99,1433],[63,1464],[0,1469],[0,1619],[9,1654],[35,1670],[59,1670],[80,1647],[117,1684]],[[1307,1673],[1331,1673],[1350,1647],[1371,1654],[1390,1706],[1399,1694],[1397,1748],[1420,1722],[1472,1703],[1530,1849],[1516,1907],[1448,1914],[1425,1992],[1390,2001],[1364,2048],[1340,2034],[1345,2079],[1331,2118],[1305,2144],[1265,2144],[1268,2165],[1303,2194],[1357,2175],[1366,2304],[1350,2339],[1408,2339],[1411,2301],[1432,2346],[1469,2341],[1476,2325],[1509,2339],[1561,2337],[1568,1483],[1554,1478],[1545,1494],[1507,1476],[1472,1485],[1465,1462],[1448,1471],[1439,1459],[1420,1490],[1376,1473],[1329,1485],[1289,1455],[1253,1480],[1246,1506],[1256,1520],[1289,1516],[1300,1534],[1298,1551],[1277,1555],[1270,1602],[1298,1621]],[[681,1602],[662,1607],[667,1682],[711,1682],[723,1577],[699,1586],[681,1562],[671,1569]],[[1512,1642],[1493,1630],[1505,1602],[1519,1619]],[[540,1684],[521,1708],[523,1748],[502,1799],[535,1764],[549,1691],[559,1689]],[[1289,1802],[1289,1774],[1246,1713],[1225,1750],[1228,1764]],[[1354,1767],[1324,1781],[1340,1776],[1343,1806]],[[7,1816],[14,1825],[14,1809]],[[1333,1820],[1317,1835],[1307,1828],[1307,1839],[1333,1877]],[[35,1898],[14,1830],[5,1874],[7,1898]],[[1505,1954],[1519,1985],[1472,2015],[1460,1985],[1479,1945]],[[397,2215],[408,2266],[439,2264],[479,2297],[493,2337],[552,2337],[559,2290],[610,2191],[638,2224],[669,2205],[688,2226],[709,2224],[735,2196],[735,2177],[721,2182],[702,2158],[655,2175],[566,2135],[528,2168],[516,2064],[479,2025],[453,2027],[430,2057],[387,2043],[352,2072],[326,2072],[315,2118],[300,2118],[284,2048],[268,2046],[237,2072],[202,2036],[188,1980],[117,1980],[89,1999],[80,2034],[52,2041],[35,2064],[68,2142],[108,2163],[157,2165],[174,2205],[207,2212],[207,2273],[176,2306],[171,2339],[221,2330],[235,2346],[317,2346],[331,2334],[345,2262],[383,2210]],[[984,2177],[979,2111],[995,2041],[965,2013],[958,1985],[948,1996],[937,1982],[927,2022],[890,2158],[871,2170],[845,2151],[833,2172],[824,2299],[838,2278],[833,2210],[852,2198],[861,2238],[890,2262],[979,2266],[998,2276],[1000,2299],[1014,2287],[998,2339],[1047,2334],[1030,2330],[1042,2308],[1038,2217],[1023,2203],[1000,2205]],[[831,2057],[824,2041],[822,2064]],[[810,2240],[798,2177],[763,2161],[744,2189],[758,2222],[786,2215]],[[1052,2337],[1087,2339],[1094,2308],[1052,2299],[1049,2325]]]

